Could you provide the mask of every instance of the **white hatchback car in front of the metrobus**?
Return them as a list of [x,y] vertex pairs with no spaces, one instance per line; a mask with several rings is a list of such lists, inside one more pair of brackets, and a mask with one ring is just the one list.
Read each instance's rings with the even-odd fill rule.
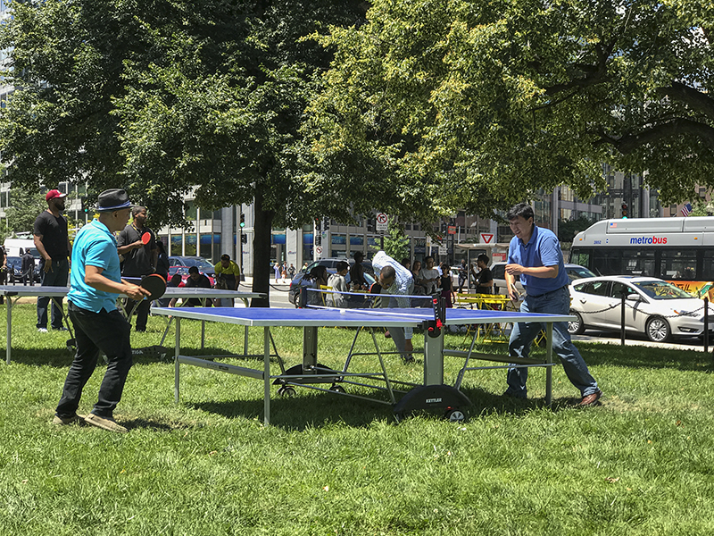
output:
[[[697,337],[704,332],[704,302],[668,281],[652,277],[607,276],[577,281],[570,286],[568,331],[619,331],[625,292],[625,330],[644,333],[652,342],[672,337]],[[714,319],[714,306],[710,305]],[[710,324],[714,332],[714,323]]]

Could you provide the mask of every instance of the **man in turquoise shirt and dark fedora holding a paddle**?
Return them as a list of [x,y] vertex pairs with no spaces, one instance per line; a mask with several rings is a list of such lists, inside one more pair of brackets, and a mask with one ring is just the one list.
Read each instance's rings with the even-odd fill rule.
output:
[[[54,424],[85,423],[108,431],[126,432],[114,420],[124,383],[132,364],[129,322],[120,314],[116,300],[120,294],[135,300],[148,295],[141,287],[121,280],[120,260],[114,233],[124,229],[131,204],[123,189],[99,194],[99,218],[87,223],[74,240],[71,288],[67,294],[70,319],[74,325],[77,352],[67,373]],[[86,417],[77,414],[82,389],[94,373],[99,353],[107,359],[99,396]]]

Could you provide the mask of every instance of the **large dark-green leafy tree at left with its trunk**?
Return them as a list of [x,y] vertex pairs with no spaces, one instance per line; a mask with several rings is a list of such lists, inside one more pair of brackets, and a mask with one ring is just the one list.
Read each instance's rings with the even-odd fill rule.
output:
[[360,21],[361,2],[14,5],[0,34],[21,88],[0,121],[13,186],[122,186],[155,224],[187,225],[189,192],[211,210],[253,203],[253,290],[266,293],[272,225],[344,215],[348,199],[326,200],[305,172],[299,129],[332,55],[308,36]]

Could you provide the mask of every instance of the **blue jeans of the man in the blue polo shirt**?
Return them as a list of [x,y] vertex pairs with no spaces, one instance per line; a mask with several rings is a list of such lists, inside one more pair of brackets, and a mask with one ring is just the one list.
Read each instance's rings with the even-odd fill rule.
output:
[[[546,292],[542,296],[527,296],[520,306],[521,313],[569,314],[570,293],[568,287]],[[527,357],[530,346],[538,333],[545,328],[541,322],[519,322],[513,325],[508,351],[511,357]],[[583,397],[597,392],[597,381],[587,370],[587,365],[570,341],[567,322],[553,322],[552,351],[560,357],[570,383],[580,390]],[[517,398],[526,398],[527,368],[508,369],[506,393]]]

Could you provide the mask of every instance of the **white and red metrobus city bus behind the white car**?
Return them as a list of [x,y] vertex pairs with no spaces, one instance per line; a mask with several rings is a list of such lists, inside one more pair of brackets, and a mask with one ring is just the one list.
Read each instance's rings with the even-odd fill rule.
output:
[[714,217],[595,222],[573,239],[570,262],[600,275],[657,277],[714,300]]

